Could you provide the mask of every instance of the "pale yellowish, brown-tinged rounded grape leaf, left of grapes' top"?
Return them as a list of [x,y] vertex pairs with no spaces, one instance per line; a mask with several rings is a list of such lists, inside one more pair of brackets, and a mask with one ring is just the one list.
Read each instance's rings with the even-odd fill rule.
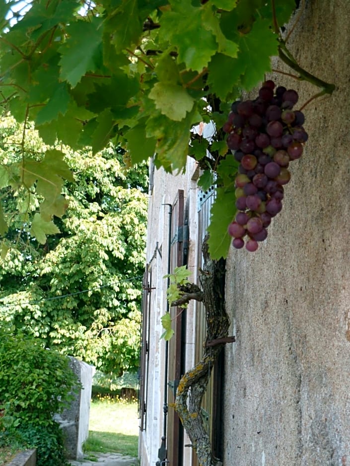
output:
[[176,84],[157,82],[149,93],[155,106],[172,120],[181,121],[193,108],[194,99]]

